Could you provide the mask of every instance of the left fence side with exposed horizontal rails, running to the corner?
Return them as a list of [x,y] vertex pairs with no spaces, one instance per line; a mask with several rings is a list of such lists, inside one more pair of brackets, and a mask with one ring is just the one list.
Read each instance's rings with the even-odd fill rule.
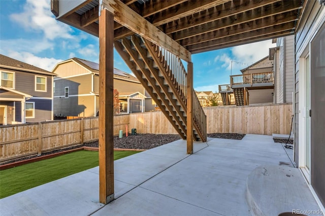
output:
[[[114,134],[125,133],[129,115],[114,117]],[[0,162],[97,140],[98,117],[0,127]]]

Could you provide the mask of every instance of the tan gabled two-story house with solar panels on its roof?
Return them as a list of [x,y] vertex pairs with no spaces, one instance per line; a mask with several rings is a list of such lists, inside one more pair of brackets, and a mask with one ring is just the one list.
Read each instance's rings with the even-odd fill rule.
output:
[[[72,58],[56,64],[54,116],[91,117],[99,111],[99,64]],[[119,92],[120,112],[154,111],[155,103],[134,76],[114,68],[114,89]]]

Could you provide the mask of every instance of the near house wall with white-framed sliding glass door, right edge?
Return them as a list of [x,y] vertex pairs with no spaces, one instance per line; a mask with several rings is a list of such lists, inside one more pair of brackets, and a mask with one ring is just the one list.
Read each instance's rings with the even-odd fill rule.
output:
[[306,1],[295,33],[294,160],[325,210],[325,2]]

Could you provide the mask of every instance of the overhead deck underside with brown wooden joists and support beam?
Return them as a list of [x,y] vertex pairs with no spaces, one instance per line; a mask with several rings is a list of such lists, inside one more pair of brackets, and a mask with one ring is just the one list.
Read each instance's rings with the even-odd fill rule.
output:
[[[164,33],[161,39],[167,37],[194,54],[294,34],[307,1],[79,0],[71,3],[72,1],[59,0],[56,2],[57,5],[53,4],[51,11],[58,20],[96,37],[99,35],[99,10],[107,8],[114,14],[115,41],[133,34],[145,37],[148,33],[146,28],[150,28],[154,32]],[[103,5],[99,6],[102,2]],[[136,26],[127,22],[131,17],[134,17]],[[144,29],[147,30],[146,33]],[[168,44],[170,40],[165,42]],[[163,44],[161,46],[164,47]],[[178,48],[175,46],[175,50]]]

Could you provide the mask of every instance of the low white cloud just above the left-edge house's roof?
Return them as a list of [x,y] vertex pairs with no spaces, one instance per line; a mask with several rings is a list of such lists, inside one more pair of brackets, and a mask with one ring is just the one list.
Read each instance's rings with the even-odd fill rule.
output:
[[10,52],[7,55],[11,58],[40,67],[48,71],[51,71],[56,63],[63,61],[62,59],[38,57],[27,52]]

